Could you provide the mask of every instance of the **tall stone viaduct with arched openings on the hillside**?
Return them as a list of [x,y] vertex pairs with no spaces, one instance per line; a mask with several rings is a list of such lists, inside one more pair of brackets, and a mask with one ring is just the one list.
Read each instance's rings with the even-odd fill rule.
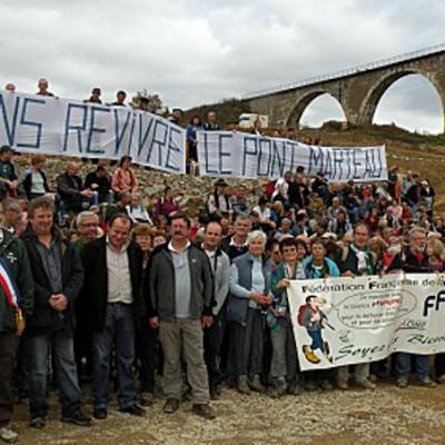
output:
[[444,110],[445,44],[248,95],[244,100],[253,112],[268,115],[270,127],[297,127],[306,107],[328,93],[338,100],[349,123],[372,123],[384,92],[408,75],[427,78],[436,88]]

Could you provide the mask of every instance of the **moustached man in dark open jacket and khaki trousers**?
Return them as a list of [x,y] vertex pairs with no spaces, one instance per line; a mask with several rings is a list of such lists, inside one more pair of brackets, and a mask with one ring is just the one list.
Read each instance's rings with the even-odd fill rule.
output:
[[146,298],[150,326],[159,327],[162,345],[166,414],[179,408],[181,357],[187,363],[194,413],[211,419],[209,387],[204,362],[202,327],[212,324],[214,283],[207,255],[188,240],[189,220],[170,217],[171,240],[151,255],[146,273]]

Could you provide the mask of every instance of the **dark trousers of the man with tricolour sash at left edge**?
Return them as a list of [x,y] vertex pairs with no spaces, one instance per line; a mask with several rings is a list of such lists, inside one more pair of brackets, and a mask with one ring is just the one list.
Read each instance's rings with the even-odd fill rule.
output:
[[12,418],[12,374],[16,358],[16,334],[0,333],[0,427]]

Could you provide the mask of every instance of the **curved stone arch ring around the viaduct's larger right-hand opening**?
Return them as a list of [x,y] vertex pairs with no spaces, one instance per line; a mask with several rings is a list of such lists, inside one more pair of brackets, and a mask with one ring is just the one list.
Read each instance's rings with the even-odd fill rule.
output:
[[385,92],[389,89],[389,87],[393,83],[409,75],[419,75],[429,81],[429,83],[435,88],[435,90],[438,93],[442,103],[442,110],[444,112],[445,91],[442,91],[442,88],[439,87],[439,85],[437,85],[433,76],[424,70],[419,70],[416,68],[408,68],[396,72],[392,72],[388,76],[380,78],[379,81],[369,89],[367,96],[365,97],[360,106],[359,121],[362,123],[369,123],[369,125],[373,123],[373,118],[382,97],[385,95]]

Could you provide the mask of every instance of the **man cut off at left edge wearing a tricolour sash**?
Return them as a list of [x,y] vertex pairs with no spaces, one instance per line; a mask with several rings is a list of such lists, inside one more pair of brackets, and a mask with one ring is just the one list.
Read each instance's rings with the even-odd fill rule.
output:
[[33,290],[27,249],[20,239],[0,228],[0,441],[10,444],[18,441],[17,433],[9,427],[17,336],[24,318],[32,313]]

